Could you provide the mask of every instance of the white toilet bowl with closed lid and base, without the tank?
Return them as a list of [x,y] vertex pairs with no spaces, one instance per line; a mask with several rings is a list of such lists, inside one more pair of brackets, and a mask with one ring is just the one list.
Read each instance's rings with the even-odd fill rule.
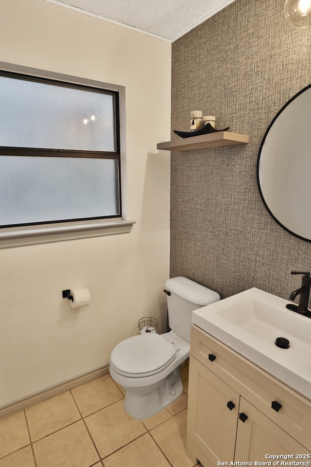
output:
[[124,410],[131,417],[151,417],[180,397],[180,370],[189,351],[189,342],[174,331],[133,336],[113,349],[110,376],[124,388]]

